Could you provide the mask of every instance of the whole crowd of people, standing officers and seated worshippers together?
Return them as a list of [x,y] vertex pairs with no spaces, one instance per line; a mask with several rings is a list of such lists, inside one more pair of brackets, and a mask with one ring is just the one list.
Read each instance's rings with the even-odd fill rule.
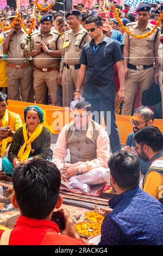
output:
[[[27,29],[33,11],[29,2],[28,8],[21,8]],[[152,31],[163,7],[140,3],[131,12],[129,4],[124,9],[114,4],[124,26],[139,36]],[[117,196],[109,200],[109,209],[99,209],[105,216],[99,245],[163,244],[163,136],[153,125],[154,109],[142,105],[143,92],[153,80],[162,92],[158,52],[163,35],[160,28],[144,39],[122,31],[114,7],[100,11],[99,5],[90,10],[75,4],[68,13],[37,11],[31,37],[23,31],[20,16],[11,31],[2,31],[8,95],[0,93],[0,179],[12,180],[11,203],[21,215],[14,229],[0,230],[1,245],[84,245],[70,214],[62,209],[59,188],[62,184],[89,193],[91,185],[105,182]],[[16,15],[12,11],[2,11],[5,26]],[[8,98],[33,102],[34,96],[37,103],[51,100],[65,107],[78,100],[53,153],[39,106],[24,109],[24,124],[8,110]],[[122,102],[122,114],[134,113],[133,132],[123,148],[115,118]],[[65,161],[67,150],[70,162]],[[54,211],[63,212],[64,229],[51,221]]]

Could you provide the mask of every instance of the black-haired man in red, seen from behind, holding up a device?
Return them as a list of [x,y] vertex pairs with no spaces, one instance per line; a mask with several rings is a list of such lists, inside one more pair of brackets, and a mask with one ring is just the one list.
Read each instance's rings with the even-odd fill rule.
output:
[[60,211],[63,201],[59,194],[61,176],[55,164],[35,159],[20,165],[12,174],[12,183],[14,193],[11,203],[20,210],[21,215],[10,232],[0,230],[2,245],[6,242],[3,238],[5,235],[9,245],[84,244],[67,210],[62,210],[64,230],[59,230],[57,223],[52,221],[53,211]]

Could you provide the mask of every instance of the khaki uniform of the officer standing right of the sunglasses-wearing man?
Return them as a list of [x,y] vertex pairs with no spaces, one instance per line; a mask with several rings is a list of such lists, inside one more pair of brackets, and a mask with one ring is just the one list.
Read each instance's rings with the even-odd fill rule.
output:
[[[129,31],[136,35],[146,34],[152,31],[153,27],[154,25],[148,23],[147,27],[142,30],[138,22],[127,24]],[[154,51],[158,52],[160,44],[158,29],[145,39],[136,39],[124,33],[123,44],[129,45],[129,78],[125,81],[124,87],[123,115],[131,115],[137,88],[139,88],[139,105],[141,105],[142,92],[152,85],[155,72],[153,67]]]

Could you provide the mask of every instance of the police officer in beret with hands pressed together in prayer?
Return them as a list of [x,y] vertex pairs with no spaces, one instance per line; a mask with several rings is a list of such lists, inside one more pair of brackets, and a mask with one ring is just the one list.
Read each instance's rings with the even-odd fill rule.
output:
[[[59,58],[61,57],[62,38],[52,31],[53,17],[46,14],[40,20],[41,31],[33,35],[34,50],[34,90],[37,103],[46,103],[47,87],[52,97],[52,105],[61,106],[59,97]],[[26,45],[29,51],[29,45]]]

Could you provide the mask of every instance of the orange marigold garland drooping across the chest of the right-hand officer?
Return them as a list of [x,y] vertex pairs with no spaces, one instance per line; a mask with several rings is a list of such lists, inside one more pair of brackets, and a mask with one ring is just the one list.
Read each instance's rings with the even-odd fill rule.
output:
[[160,22],[161,20],[163,20],[163,10],[161,11],[161,14],[160,14],[160,17],[158,19],[158,21],[156,22],[156,25],[153,27],[152,31],[148,32],[147,34],[144,34],[144,35],[136,35],[136,34],[133,34],[131,33],[127,27],[125,27],[123,25],[123,22],[121,21],[120,19],[120,16],[118,15],[118,11],[115,9],[115,7],[112,7],[112,9],[114,10],[114,13],[115,13],[115,17],[116,17],[116,20],[118,21],[119,25],[124,29],[124,31],[131,35],[131,36],[134,36],[134,38],[137,38],[137,39],[143,39],[143,38],[148,38],[149,35],[152,35],[154,33],[154,31],[156,30],[156,28],[160,25]]

